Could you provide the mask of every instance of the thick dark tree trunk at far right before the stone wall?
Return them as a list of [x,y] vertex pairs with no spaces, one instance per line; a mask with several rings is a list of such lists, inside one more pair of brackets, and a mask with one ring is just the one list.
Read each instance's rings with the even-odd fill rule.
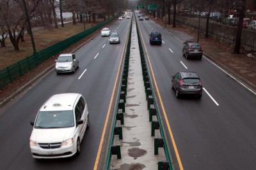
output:
[[237,32],[236,32],[236,44],[234,48],[234,53],[240,53],[240,47],[241,47],[241,36],[243,31],[243,20],[244,20],[244,11],[245,11],[245,4],[246,0],[241,1],[241,10],[240,10],[240,17],[239,22],[237,25]]

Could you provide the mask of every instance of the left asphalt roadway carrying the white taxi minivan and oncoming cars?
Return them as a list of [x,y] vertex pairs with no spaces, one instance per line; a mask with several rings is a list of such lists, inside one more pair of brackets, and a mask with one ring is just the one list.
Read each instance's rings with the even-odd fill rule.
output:
[[[26,93],[0,111],[0,169],[93,169],[106,122],[111,96],[125,48],[131,20],[116,20],[109,27],[121,36],[120,44],[109,45],[108,37],[97,35],[76,52],[79,69],[74,74],[54,70]],[[36,160],[31,156],[29,137],[36,114],[53,94],[77,92],[84,96],[90,115],[90,129],[81,143],[81,155],[67,159]],[[110,120],[111,122],[111,120]],[[106,145],[108,141],[104,141]],[[104,150],[106,152],[106,150]],[[104,156],[104,155],[103,155]],[[103,162],[99,162],[99,164]]]

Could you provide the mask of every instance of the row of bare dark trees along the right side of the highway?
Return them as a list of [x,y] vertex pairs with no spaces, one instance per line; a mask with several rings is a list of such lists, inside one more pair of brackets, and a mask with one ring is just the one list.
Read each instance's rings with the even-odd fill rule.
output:
[[[140,0],[139,3],[144,3],[144,0]],[[149,0],[148,4],[157,4],[159,6],[159,13],[162,13],[162,16],[168,15],[168,24],[171,24],[171,11],[172,15],[172,25],[176,27],[176,15],[177,9],[180,10],[190,10],[198,11],[207,11],[207,21],[205,28],[205,38],[209,38],[209,18],[211,12],[219,11],[224,13],[225,11],[229,12],[236,10],[239,13],[239,23],[237,25],[237,35],[236,43],[234,46],[234,53],[240,53],[241,46],[241,35],[243,30],[243,18],[245,13],[246,0]],[[167,11],[166,11],[167,10]],[[199,15],[200,16],[200,15]]]

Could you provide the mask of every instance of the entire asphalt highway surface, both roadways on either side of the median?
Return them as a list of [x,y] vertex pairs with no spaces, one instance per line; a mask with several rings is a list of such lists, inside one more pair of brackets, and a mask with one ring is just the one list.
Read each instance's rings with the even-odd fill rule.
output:
[[[120,44],[109,45],[108,37],[99,34],[74,52],[79,60],[76,73],[57,75],[52,70],[0,110],[0,169],[93,169],[99,161],[104,124],[111,122],[107,115],[109,106],[113,106],[111,99],[130,21],[116,20],[109,27],[120,34]],[[179,32],[177,39],[152,20],[138,22],[175,169],[255,169],[256,95],[207,58],[182,57],[182,41],[190,36]],[[161,46],[149,44],[151,31],[161,32]],[[202,99],[175,97],[171,76],[178,71],[199,74],[204,87]],[[35,120],[49,97],[66,92],[83,94],[88,103],[90,129],[81,143],[81,155],[33,159],[29,122]]]

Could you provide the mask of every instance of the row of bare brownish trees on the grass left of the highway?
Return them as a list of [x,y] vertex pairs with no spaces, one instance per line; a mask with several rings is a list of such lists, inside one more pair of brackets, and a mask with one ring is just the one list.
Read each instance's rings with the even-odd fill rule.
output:
[[[24,6],[26,5],[26,8]],[[58,29],[58,22],[64,27],[64,12],[71,12],[73,24],[77,20],[95,22],[95,15],[110,17],[116,11],[122,10],[124,4],[118,0],[0,0],[0,43],[6,47],[5,39],[10,38],[14,50],[19,50],[19,42],[24,41],[24,33],[29,31],[29,20],[32,26],[52,27]],[[58,13],[60,11],[60,18]]]

